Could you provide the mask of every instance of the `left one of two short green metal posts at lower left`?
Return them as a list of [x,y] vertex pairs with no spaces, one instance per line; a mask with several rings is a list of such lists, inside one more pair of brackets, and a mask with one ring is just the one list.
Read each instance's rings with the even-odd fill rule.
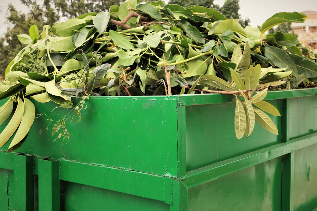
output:
[[34,210],[33,155],[14,155],[14,207],[16,210]]

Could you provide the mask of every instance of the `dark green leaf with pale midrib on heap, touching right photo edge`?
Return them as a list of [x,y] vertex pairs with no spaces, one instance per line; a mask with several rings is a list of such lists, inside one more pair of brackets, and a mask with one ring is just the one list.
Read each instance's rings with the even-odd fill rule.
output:
[[304,74],[306,78],[317,77],[317,63],[295,54],[288,55],[295,63],[298,74]]

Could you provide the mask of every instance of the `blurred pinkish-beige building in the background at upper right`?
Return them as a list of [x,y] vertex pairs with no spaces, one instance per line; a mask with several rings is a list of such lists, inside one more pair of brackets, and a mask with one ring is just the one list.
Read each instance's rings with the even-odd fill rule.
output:
[[317,11],[307,10],[301,13],[307,15],[307,19],[303,23],[292,23],[291,28],[303,46],[311,46],[317,53]]

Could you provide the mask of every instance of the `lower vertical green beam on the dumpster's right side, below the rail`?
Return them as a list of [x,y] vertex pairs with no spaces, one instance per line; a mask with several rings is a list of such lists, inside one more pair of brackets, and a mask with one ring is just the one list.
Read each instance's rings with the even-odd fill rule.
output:
[[282,172],[282,209],[293,211],[294,197],[294,152],[283,156]]

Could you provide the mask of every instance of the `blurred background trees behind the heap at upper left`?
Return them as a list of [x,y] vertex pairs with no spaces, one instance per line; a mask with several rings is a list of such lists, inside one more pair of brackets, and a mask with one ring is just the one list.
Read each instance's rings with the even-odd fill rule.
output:
[[8,27],[0,38],[0,80],[16,53],[25,47],[20,43],[17,35],[29,34],[31,25],[35,24],[41,33],[44,25],[52,26],[61,17],[73,18],[77,14],[107,11],[111,5],[120,3],[116,0],[44,0],[42,5],[36,0],[20,0],[20,2],[28,7],[29,12],[25,14],[17,11],[12,4],[8,6],[6,16]]

